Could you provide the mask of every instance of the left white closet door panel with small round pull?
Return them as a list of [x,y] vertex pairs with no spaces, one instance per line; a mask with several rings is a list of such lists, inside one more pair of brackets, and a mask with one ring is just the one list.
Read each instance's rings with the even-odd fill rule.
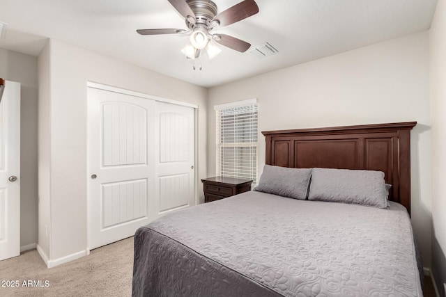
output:
[[89,248],[132,236],[157,216],[155,102],[88,88]]

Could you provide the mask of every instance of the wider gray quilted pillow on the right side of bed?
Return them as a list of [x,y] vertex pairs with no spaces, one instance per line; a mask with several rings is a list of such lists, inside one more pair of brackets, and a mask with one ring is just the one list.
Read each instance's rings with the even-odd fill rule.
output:
[[313,168],[308,200],[363,204],[385,209],[384,172]]

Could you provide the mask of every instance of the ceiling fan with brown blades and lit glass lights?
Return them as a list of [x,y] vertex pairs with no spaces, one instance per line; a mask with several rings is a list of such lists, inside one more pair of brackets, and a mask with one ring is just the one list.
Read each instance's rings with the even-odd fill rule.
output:
[[218,13],[217,6],[210,0],[168,0],[178,13],[185,18],[187,29],[140,29],[141,35],[190,34],[190,43],[183,49],[188,58],[198,58],[201,49],[208,52],[209,58],[220,52],[212,45],[214,40],[224,47],[245,52],[251,45],[230,35],[212,33],[213,29],[246,19],[259,13],[254,0],[244,0]]

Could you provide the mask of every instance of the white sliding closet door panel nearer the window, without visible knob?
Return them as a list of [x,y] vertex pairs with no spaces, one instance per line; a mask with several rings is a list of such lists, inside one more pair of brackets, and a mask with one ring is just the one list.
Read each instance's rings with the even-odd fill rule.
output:
[[158,214],[195,204],[195,129],[192,107],[156,102]]

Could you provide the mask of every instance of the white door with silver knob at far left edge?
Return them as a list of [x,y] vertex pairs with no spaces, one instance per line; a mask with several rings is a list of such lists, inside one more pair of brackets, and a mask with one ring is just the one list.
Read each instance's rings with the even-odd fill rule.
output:
[[20,255],[20,83],[0,102],[0,260]]

